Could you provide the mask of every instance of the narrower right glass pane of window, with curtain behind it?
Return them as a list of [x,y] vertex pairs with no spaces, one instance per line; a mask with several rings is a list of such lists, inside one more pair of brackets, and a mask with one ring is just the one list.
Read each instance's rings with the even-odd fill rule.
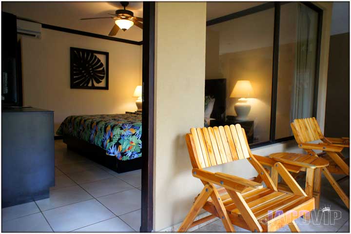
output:
[[292,136],[295,118],[312,117],[318,13],[300,2],[281,6],[275,138]]

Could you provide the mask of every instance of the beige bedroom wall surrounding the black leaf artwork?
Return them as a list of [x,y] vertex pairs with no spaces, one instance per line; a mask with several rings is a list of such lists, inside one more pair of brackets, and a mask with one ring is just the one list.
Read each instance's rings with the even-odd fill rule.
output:
[[[141,84],[139,45],[42,29],[41,39],[22,37],[23,103],[55,111],[55,131],[69,115],[136,111]],[[70,88],[70,47],[109,52],[109,90]]]

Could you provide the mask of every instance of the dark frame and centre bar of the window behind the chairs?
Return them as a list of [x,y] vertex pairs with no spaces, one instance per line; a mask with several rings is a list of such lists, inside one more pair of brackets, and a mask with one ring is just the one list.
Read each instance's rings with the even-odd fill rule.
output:
[[[222,16],[213,20],[208,20],[206,26],[214,25],[217,23],[225,22],[228,20],[234,20],[243,16],[251,15],[260,11],[274,8],[274,35],[273,35],[273,67],[272,67],[272,95],[271,95],[271,119],[270,119],[270,139],[268,141],[262,141],[258,143],[250,144],[250,148],[257,148],[260,146],[271,145],[283,141],[289,141],[294,139],[293,136],[283,137],[275,139],[275,127],[276,127],[276,104],[277,104],[277,84],[278,84],[278,57],[279,57],[279,30],[280,30],[280,7],[286,2],[267,2],[254,6],[233,14]],[[321,54],[321,39],[322,39],[322,23],[323,23],[323,10],[317,7],[310,1],[301,1],[300,3],[308,6],[318,14],[317,22],[317,51],[316,51],[316,64],[314,72],[314,94],[313,94],[313,112],[312,117],[317,116],[317,103],[318,103],[318,81],[319,81],[319,63]]]

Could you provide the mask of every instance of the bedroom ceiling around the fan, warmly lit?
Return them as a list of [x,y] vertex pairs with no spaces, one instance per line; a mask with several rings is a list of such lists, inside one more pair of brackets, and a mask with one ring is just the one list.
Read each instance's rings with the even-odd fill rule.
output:
[[[1,11],[9,12],[17,17],[35,20],[40,23],[80,31],[108,35],[114,26],[113,19],[79,20],[81,18],[108,17],[107,13],[115,13],[123,9],[119,1],[115,2],[1,2]],[[142,17],[142,2],[132,1],[126,8],[134,12],[134,16]],[[123,32],[119,30],[116,38],[141,41],[142,30],[136,26]]]

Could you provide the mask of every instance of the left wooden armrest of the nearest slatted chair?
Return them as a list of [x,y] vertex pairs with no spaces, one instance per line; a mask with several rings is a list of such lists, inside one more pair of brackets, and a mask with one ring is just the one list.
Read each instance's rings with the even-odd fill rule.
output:
[[[246,185],[238,183],[234,179],[234,177],[231,178],[231,177],[228,177],[229,175],[228,176],[224,176],[224,175],[226,175],[226,174],[216,175],[215,173],[208,172],[208,171],[205,171],[203,169],[197,169],[197,168],[193,169],[193,176],[194,177],[199,178],[202,181],[206,181],[206,182],[217,184],[219,186],[222,186],[222,187],[224,187],[226,189],[229,189],[229,190],[232,190],[232,191],[235,191],[235,192],[241,193],[242,191],[244,191],[248,187]],[[235,176],[235,177],[236,178],[240,178],[240,177],[237,177],[237,176]],[[240,179],[245,180],[243,178],[240,178]],[[250,180],[247,180],[247,181],[250,181]],[[250,182],[253,182],[253,181],[250,181]],[[255,188],[263,188],[263,185],[262,184],[260,184],[260,186],[256,185]]]

